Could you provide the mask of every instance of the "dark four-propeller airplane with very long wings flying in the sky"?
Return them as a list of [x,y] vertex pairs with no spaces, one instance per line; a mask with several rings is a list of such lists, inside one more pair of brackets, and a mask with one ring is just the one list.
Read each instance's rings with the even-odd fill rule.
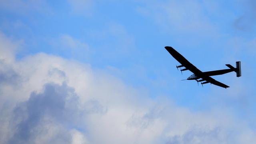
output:
[[[226,66],[229,69],[224,69],[224,70],[214,70],[214,71],[209,71],[209,72],[202,72],[201,70],[199,70],[198,68],[196,68],[196,66],[194,66],[193,64],[191,64],[188,60],[186,60],[186,58],[184,58],[180,53],[178,53],[176,50],[174,50],[174,48],[172,48],[171,46],[165,46],[164,47],[178,62],[180,62],[180,66],[176,66],[177,70],[178,68],[180,68],[180,71],[182,73],[182,71],[184,70],[190,70],[191,72],[193,72],[194,74],[192,74],[191,76],[189,76],[186,80],[196,80],[197,84],[198,82],[201,82],[202,86],[203,84],[214,84],[216,86],[220,86],[222,88],[229,88],[229,86],[227,86],[226,84],[223,84],[221,82],[218,82],[217,80],[214,80],[213,78],[211,78],[210,76],[216,76],[216,75],[221,75],[221,74],[226,74],[229,72],[236,72],[236,76],[240,77],[241,76],[241,62],[238,61],[236,62],[236,68],[234,68],[233,66],[231,66],[230,64],[226,64]],[[182,69],[182,67],[185,67],[184,69]]]

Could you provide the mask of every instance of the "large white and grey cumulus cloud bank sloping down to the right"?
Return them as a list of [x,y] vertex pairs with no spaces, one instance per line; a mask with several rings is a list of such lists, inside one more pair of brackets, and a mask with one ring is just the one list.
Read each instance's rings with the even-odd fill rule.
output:
[[[2,36],[1,39],[8,39]],[[12,46],[12,40],[0,47]],[[252,143],[255,132],[225,110],[192,112],[153,100],[88,64],[39,53],[5,57],[18,86],[0,88],[0,143]],[[12,59],[12,60],[8,60]],[[2,71],[6,82],[13,81]],[[238,125],[239,124],[239,125]]]

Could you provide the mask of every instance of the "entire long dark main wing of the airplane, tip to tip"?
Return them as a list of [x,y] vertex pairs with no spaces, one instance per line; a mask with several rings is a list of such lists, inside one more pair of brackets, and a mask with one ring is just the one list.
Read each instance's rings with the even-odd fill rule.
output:
[[223,84],[221,82],[218,82],[217,80],[214,80],[213,78],[211,78],[210,76],[207,76],[206,74],[204,74],[201,70],[199,70],[198,68],[196,68],[196,66],[194,66],[193,64],[191,64],[188,60],[186,60],[186,58],[184,58],[184,56],[182,56],[180,53],[178,53],[176,50],[174,50],[174,48],[172,48],[171,46],[166,46],[164,47],[178,62],[180,62],[180,64],[182,64],[182,66],[184,66],[185,68],[187,68],[188,70],[190,70],[191,72],[193,72],[194,74],[196,74],[197,76],[200,76],[203,80],[205,80],[206,82],[209,82],[211,84],[214,84],[216,86],[220,86],[222,88],[229,88],[229,86],[227,86],[226,84]]

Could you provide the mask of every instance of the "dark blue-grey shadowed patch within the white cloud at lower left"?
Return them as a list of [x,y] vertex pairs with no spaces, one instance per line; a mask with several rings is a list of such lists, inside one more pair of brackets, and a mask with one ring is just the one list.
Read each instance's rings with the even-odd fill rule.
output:
[[13,123],[17,120],[20,122],[16,124],[16,132],[9,143],[35,143],[38,136],[45,135],[48,131],[45,123],[60,125],[58,136],[50,138],[47,143],[70,143],[71,136],[62,127],[78,127],[78,105],[78,96],[66,84],[46,84],[44,92],[33,92],[28,101],[18,104],[14,109]]

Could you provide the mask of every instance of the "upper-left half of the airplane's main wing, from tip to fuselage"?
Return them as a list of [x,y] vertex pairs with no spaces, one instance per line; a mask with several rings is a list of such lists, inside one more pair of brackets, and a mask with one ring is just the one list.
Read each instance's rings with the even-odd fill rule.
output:
[[186,60],[186,58],[184,58],[180,53],[178,53],[176,50],[174,50],[174,48],[170,47],[170,46],[166,46],[164,47],[178,62],[180,62],[180,64],[182,64],[182,66],[184,66],[185,68],[187,68],[188,70],[190,70],[191,72],[193,72],[196,75],[201,75],[202,71],[198,70],[198,68],[196,68],[193,64],[191,64],[188,60]]

